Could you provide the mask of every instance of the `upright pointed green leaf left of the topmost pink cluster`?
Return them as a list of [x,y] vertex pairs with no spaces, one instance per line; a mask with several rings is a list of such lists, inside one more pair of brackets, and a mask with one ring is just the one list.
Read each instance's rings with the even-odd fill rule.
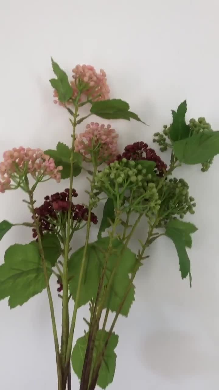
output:
[[58,64],[51,58],[53,72],[57,76],[57,79],[52,78],[49,80],[51,86],[58,92],[58,99],[62,103],[66,103],[72,96],[72,87],[69,83],[67,74],[58,66]]

